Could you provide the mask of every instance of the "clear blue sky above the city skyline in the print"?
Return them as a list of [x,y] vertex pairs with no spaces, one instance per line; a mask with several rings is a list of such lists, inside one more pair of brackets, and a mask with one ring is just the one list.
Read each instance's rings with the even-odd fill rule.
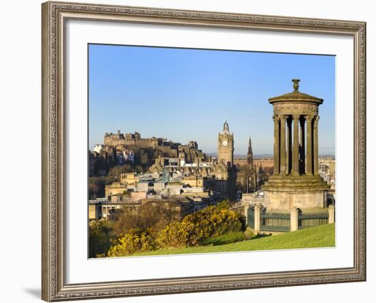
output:
[[217,151],[224,121],[234,133],[236,154],[273,153],[273,108],[268,98],[293,91],[323,98],[319,107],[319,153],[334,155],[335,57],[89,46],[89,147],[106,132],[138,131],[142,137],[198,142]]

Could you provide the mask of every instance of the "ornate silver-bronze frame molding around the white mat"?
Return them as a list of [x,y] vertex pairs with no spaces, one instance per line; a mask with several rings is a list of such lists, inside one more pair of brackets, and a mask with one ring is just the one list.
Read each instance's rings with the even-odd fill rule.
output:
[[[354,41],[353,267],[66,284],[65,53],[68,19],[346,35]],[[42,299],[48,302],[366,280],[366,23],[85,3],[42,3]]]

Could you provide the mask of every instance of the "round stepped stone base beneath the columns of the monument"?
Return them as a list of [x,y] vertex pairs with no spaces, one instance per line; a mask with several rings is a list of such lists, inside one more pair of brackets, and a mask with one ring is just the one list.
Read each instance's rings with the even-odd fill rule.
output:
[[264,207],[291,210],[327,207],[329,185],[321,176],[273,175],[262,186],[265,192]]

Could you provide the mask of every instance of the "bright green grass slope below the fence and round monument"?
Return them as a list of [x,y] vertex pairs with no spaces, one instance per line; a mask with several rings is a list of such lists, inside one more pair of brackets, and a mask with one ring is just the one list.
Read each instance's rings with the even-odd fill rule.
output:
[[[238,238],[240,241],[228,243],[232,239]],[[281,233],[269,237],[259,237],[242,241],[239,233],[232,233],[209,239],[203,246],[193,246],[188,248],[170,248],[143,252],[137,256],[152,256],[158,254],[199,254],[203,252],[239,252],[249,250],[278,250],[288,248],[318,248],[335,246],[334,224],[326,224],[293,231],[291,233]],[[221,243],[228,243],[221,245]],[[135,254],[136,255],[136,254]]]

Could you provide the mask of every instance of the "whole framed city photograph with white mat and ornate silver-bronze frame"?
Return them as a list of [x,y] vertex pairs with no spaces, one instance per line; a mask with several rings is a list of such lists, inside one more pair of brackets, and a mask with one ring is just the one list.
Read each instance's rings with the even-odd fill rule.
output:
[[366,25],[42,4],[42,299],[366,279]]

